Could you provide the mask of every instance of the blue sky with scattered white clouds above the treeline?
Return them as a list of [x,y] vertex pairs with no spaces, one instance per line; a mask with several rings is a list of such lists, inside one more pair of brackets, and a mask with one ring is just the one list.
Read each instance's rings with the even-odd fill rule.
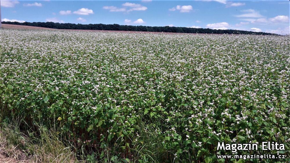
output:
[[289,33],[283,1],[4,1],[2,21],[120,24]]

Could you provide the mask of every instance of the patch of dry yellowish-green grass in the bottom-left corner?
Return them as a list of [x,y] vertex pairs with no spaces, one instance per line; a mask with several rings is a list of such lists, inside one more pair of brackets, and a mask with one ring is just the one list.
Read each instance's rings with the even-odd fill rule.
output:
[[79,162],[70,146],[55,131],[40,127],[39,135],[19,130],[19,126],[0,127],[0,162]]

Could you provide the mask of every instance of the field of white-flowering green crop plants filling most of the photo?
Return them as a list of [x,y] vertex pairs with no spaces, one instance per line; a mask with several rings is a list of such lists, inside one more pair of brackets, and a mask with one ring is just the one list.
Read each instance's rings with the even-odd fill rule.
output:
[[[289,36],[0,33],[2,127],[56,129],[91,162],[289,161]],[[287,159],[217,157],[265,153]]]

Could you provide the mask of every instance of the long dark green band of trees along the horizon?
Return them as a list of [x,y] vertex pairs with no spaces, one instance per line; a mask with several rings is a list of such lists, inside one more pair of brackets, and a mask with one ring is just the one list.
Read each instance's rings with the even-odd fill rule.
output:
[[[35,27],[45,27],[54,29],[72,29],[72,30],[115,30],[115,31],[143,31],[143,32],[175,32],[175,33],[213,33],[213,34],[263,34],[273,35],[265,32],[252,32],[242,30],[213,30],[209,28],[187,28],[187,27],[151,27],[151,26],[133,26],[119,24],[73,24],[73,23],[53,23],[53,22],[10,22],[3,21],[3,24],[28,25]],[[275,34],[276,35],[276,34]]]

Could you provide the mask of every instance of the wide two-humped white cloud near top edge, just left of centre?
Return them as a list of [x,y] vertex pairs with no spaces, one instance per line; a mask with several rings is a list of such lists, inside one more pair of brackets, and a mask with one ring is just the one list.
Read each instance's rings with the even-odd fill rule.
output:
[[137,3],[123,3],[122,8],[118,8],[116,6],[104,6],[103,9],[109,10],[110,12],[130,12],[130,11],[144,11],[147,10],[147,7],[142,6]]

